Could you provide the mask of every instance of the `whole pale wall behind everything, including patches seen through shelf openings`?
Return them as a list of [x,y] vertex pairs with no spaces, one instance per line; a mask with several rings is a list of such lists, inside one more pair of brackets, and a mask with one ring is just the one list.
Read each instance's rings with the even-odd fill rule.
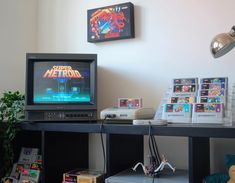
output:
[[[115,105],[118,97],[142,97],[145,106],[157,107],[172,78],[228,76],[235,82],[235,51],[218,60],[209,52],[212,37],[234,25],[235,1],[132,0],[135,39],[88,43],[87,9],[121,2],[125,1],[1,0],[0,91],[23,90],[25,52],[36,49],[97,53],[99,110]],[[93,144],[99,144],[99,139],[91,137],[90,146],[97,154]],[[177,168],[187,167],[186,138],[157,141],[161,153]],[[235,142],[212,141],[212,171],[222,170],[224,153],[234,153]],[[94,154],[91,167],[101,169],[102,153]]]

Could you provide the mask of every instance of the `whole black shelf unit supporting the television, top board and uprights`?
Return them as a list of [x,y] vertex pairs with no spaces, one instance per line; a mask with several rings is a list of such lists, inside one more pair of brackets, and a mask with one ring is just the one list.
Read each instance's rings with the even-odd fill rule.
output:
[[[100,132],[98,123],[22,123],[20,127],[23,131],[17,138],[18,150],[24,145],[41,149],[42,183],[61,182],[63,172],[88,168],[88,134]],[[104,124],[103,132],[106,133],[107,176],[143,162],[143,135],[148,135],[148,126]],[[210,137],[235,138],[235,127],[170,124],[152,127],[152,134],[188,137],[188,182],[197,183],[210,174]],[[97,156],[102,158],[102,154]]]

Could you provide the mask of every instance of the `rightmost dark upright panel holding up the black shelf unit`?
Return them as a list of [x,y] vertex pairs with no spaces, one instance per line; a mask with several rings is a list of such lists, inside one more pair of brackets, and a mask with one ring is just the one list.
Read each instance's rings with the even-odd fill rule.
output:
[[189,137],[189,182],[201,183],[210,174],[210,138]]

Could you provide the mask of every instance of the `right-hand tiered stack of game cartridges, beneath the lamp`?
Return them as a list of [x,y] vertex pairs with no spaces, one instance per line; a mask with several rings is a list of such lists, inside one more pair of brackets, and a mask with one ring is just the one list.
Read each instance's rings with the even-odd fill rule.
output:
[[223,123],[228,78],[200,79],[197,103],[193,104],[193,123]]

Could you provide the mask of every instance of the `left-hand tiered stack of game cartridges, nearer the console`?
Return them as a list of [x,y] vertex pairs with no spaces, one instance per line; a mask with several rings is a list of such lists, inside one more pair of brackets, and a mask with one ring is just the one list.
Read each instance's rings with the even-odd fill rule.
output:
[[190,123],[197,91],[197,78],[173,79],[172,94],[163,108],[163,119],[172,123]]

